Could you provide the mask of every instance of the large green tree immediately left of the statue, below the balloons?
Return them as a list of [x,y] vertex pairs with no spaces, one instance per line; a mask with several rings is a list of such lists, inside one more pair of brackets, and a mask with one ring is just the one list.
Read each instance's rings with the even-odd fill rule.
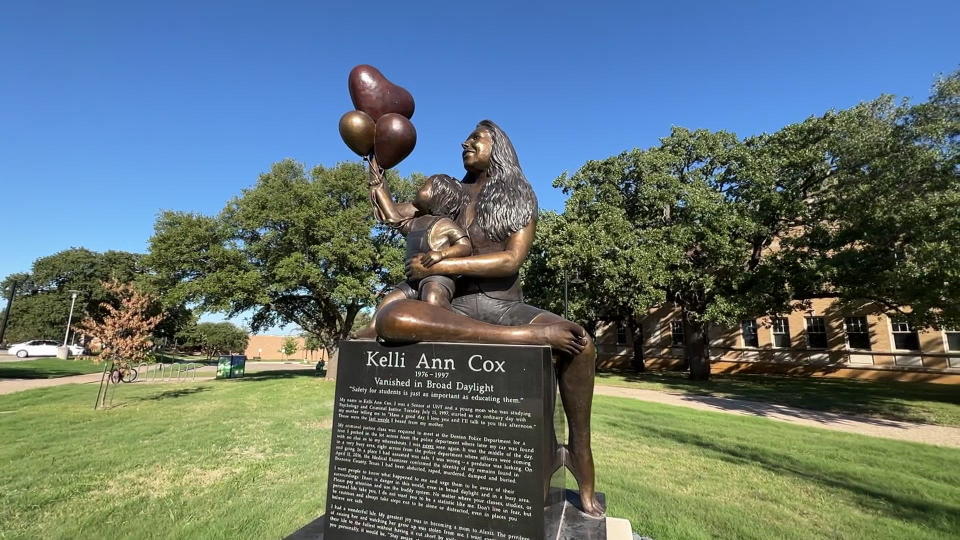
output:
[[[388,181],[401,199],[412,193]],[[358,163],[307,173],[278,162],[216,216],[162,213],[149,262],[173,302],[250,314],[254,332],[293,323],[332,349],[403,279],[402,239],[375,226],[367,189]]]

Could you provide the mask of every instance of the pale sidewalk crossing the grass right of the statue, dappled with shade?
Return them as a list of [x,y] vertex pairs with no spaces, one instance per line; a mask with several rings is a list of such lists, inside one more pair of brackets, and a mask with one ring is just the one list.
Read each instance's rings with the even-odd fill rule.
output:
[[857,433],[870,437],[897,439],[901,441],[934,444],[960,448],[960,428],[948,426],[933,426],[927,424],[912,424],[897,420],[882,418],[867,418],[850,416],[822,411],[798,409],[773,403],[746,401],[741,399],[720,398],[713,396],[698,396],[692,394],[671,394],[654,390],[638,388],[622,388],[618,386],[597,385],[595,393],[601,396],[623,397],[687,407],[701,411],[714,411],[744,416],[760,416],[798,424],[802,426],[818,427],[847,433]]

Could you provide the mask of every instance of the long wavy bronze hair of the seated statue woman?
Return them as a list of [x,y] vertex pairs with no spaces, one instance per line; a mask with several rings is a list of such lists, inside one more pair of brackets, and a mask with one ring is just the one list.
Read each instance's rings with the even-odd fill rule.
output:
[[477,225],[490,240],[502,242],[537,215],[537,195],[520,169],[513,143],[500,126],[484,120],[477,128],[493,136],[489,180],[477,195]]

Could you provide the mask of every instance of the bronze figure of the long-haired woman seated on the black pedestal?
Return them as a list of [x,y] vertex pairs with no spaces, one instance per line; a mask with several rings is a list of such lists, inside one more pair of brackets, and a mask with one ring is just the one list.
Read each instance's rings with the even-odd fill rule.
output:
[[[590,447],[593,342],[580,325],[523,302],[519,270],[536,232],[537,198],[506,133],[484,120],[462,146],[467,174],[460,185],[466,201],[454,219],[466,231],[472,252],[437,257],[431,252],[412,253],[408,247],[406,261],[407,278],[419,281],[421,288],[434,276],[459,276],[452,299],[424,302],[412,299],[409,292],[391,293],[378,306],[373,325],[358,337],[552,347],[569,425],[566,461],[579,484],[583,510],[602,516]],[[370,162],[370,184],[381,221],[411,229],[413,220],[429,215],[426,195],[423,200],[418,195],[421,204],[393,203],[375,159]]]

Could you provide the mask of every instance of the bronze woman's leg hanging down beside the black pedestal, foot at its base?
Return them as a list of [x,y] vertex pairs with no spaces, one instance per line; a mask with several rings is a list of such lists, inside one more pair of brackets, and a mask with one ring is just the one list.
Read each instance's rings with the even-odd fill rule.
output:
[[[554,324],[566,319],[550,312],[537,315],[531,325]],[[596,473],[593,466],[593,449],[590,445],[590,412],[593,406],[593,378],[597,366],[597,350],[593,340],[587,338],[586,346],[576,355],[555,353],[557,382],[563,412],[567,416],[568,467],[580,487],[583,511],[600,517],[604,509],[596,497]]]

